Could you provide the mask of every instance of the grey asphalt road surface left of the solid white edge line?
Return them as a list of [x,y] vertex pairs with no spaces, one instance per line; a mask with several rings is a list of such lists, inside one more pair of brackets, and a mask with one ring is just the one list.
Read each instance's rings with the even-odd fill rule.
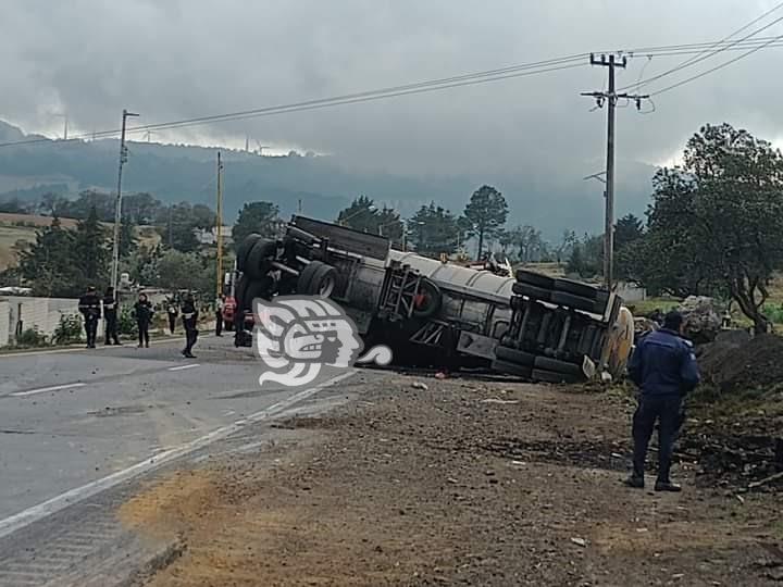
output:
[[0,529],[86,484],[198,441],[293,391],[261,389],[231,337],[0,357]]

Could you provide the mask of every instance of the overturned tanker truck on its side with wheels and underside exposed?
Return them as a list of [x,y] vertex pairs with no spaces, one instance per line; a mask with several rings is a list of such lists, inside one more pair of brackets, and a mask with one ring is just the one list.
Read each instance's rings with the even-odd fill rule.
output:
[[524,379],[617,377],[633,316],[609,291],[524,270],[502,277],[390,248],[388,239],[294,216],[277,240],[250,235],[237,250],[236,345],[251,345],[252,300],[328,297],[365,346],[395,362],[489,367]]

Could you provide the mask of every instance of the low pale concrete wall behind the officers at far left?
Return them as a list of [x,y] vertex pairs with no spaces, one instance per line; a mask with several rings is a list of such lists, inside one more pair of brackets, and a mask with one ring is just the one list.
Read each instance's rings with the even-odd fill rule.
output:
[[[32,298],[27,296],[5,296],[0,298],[0,346],[13,344],[17,333],[36,328],[51,337],[60,324],[60,316],[77,314],[78,300],[70,298]],[[3,337],[3,325],[8,325],[8,335]],[[103,321],[98,324],[98,336],[102,336]]]

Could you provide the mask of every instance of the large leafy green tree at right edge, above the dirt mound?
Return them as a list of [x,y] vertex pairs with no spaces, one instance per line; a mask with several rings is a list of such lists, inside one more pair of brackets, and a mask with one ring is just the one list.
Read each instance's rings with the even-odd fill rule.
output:
[[642,283],[684,289],[696,282],[728,295],[757,333],[767,332],[768,285],[783,267],[780,151],[747,130],[706,125],[688,140],[682,166],[658,172],[652,198],[641,249],[662,266],[639,254]]

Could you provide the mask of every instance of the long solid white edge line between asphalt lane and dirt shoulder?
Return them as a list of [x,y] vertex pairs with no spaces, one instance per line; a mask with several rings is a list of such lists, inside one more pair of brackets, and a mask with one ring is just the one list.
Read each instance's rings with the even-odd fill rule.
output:
[[304,389],[303,391],[299,391],[297,394],[294,394],[293,396],[288,396],[284,400],[278,401],[273,405],[270,405],[265,410],[261,410],[260,412],[250,414],[243,420],[238,420],[234,424],[217,428],[216,430],[213,430],[208,435],[202,436],[201,438],[197,438],[179,447],[159,452],[154,457],[145,459],[144,461],[136,463],[135,465],[132,465],[127,469],[117,471],[116,473],[112,473],[111,475],[108,475],[101,479],[97,479],[88,483],[87,485],[83,485],[82,487],[76,487],[75,489],[65,491],[64,494],[60,494],[59,496],[53,497],[52,499],[47,500],[42,503],[39,503],[38,505],[33,505],[32,508],[27,508],[26,510],[23,510],[4,520],[0,520],[0,538],[13,534],[17,529],[28,526],[29,524],[42,520],[44,517],[47,517],[53,513],[57,513],[60,510],[64,510],[69,505],[73,505],[74,503],[100,494],[101,491],[105,491],[107,489],[110,489],[123,482],[137,477],[144,473],[153,471],[165,463],[169,463],[175,459],[184,457],[185,454],[211,445],[212,442],[222,440],[223,438],[240,430],[243,426],[254,422],[260,422],[279,412],[283,412],[287,408],[290,408],[291,405],[300,402],[301,400],[318,394],[324,387],[328,387],[331,385],[339,383],[343,379],[350,377],[355,373],[355,370],[350,370],[347,373],[337,375],[336,377],[333,377],[332,379],[324,382],[321,385],[318,385],[311,389]]

